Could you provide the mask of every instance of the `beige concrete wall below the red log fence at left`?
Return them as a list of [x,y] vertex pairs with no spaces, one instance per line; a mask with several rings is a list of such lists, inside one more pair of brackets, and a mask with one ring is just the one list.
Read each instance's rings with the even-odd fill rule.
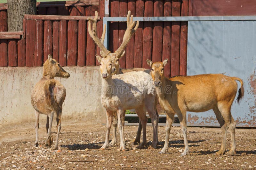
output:
[[[67,91],[62,118],[105,123],[105,109],[100,103],[99,67],[63,68],[70,77],[56,78]],[[43,67],[0,67],[0,127],[35,120],[30,95],[42,74]],[[40,119],[42,117],[46,120],[45,115]]]

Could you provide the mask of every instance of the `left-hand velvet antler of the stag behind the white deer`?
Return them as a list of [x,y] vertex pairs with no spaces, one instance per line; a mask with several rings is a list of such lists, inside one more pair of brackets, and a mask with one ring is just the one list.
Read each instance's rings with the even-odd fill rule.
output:
[[[88,18],[88,19],[89,19],[88,32],[89,32],[90,36],[92,37],[93,41],[100,48],[100,50],[101,50],[100,54],[102,55],[102,57],[107,57],[107,55],[108,55],[108,53],[110,53],[110,51],[108,51],[107,48],[103,45],[103,41],[105,39],[105,34],[106,34],[106,24],[104,25],[104,30],[102,32],[101,38],[99,39],[99,37],[97,36],[98,12],[95,11],[94,19],[92,19],[92,18]],[[91,27],[91,25],[92,25],[92,27]]]

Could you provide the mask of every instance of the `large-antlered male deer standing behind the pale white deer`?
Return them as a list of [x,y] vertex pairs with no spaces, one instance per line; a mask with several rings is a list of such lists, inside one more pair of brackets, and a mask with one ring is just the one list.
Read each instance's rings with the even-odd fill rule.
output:
[[[127,29],[126,29],[126,31],[125,31],[125,33],[124,33],[124,38],[123,38],[123,42],[122,42],[122,44],[121,44],[121,46],[114,52],[114,53],[111,53],[110,51],[108,51],[106,48],[105,48],[105,46],[103,45],[103,41],[104,41],[104,36],[105,36],[105,29],[106,29],[106,25],[105,25],[105,28],[104,28],[104,31],[103,31],[103,34],[102,34],[102,37],[101,37],[101,39],[99,39],[98,37],[97,37],[97,32],[96,32],[96,22],[97,22],[97,17],[98,17],[98,12],[97,11],[95,11],[95,18],[94,19],[92,19],[92,18],[89,18],[89,26],[88,26],[88,32],[89,32],[89,34],[90,34],[90,36],[92,37],[92,39],[95,41],[95,43],[100,47],[100,55],[103,57],[103,58],[107,58],[108,60],[110,60],[111,61],[111,66],[112,66],[112,75],[113,75],[113,73],[115,74],[116,73],[116,69],[115,69],[115,67],[113,67],[113,65],[114,65],[114,63],[113,63],[113,61],[114,60],[116,60],[116,59],[119,59],[119,58],[121,58],[123,55],[124,55],[124,53],[125,53],[125,51],[124,51],[124,48],[125,48],[125,46],[127,45],[127,43],[129,42],[129,40],[130,40],[130,38],[131,38],[131,36],[132,36],[132,34],[137,30],[137,28],[138,28],[138,26],[139,26],[139,21],[137,21],[137,24],[136,24],[136,22],[133,22],[132,21],[132,18],[133,18],[133,16],[131,16],[131,21],[130,21],[130,16],[131,16],[131,11],[129,11],[128,12],[128,14],[127,14]],[[136,24],[136,25],[135,25]],[[92,29],[91,29],[91,25],[92,25]],[[99,60],[100,58],[100,56],[96,56],[97,57],[97,59]],[[101,59],[100,59],[101,60]],[[99,61],[100,61],[99,60]],[[116,62],[118,62],[118,60],[116,61]],[[143,79],[143,78],[142,78]],[[134,107],[134,108],[136,108],[136,107]],[[153,108],[154,110],[155,110],[155,108]],[[145,110],[144,110],[144,112],[145,112]],[[123,113],[125,114],[125,110],[123,110]],[[113,112],[113,118],[111,118],[111,119],[113,119],[113,125],[114,125],[114,135],[113,135],[113,139],[112,139],[112,141],[111,141],[111,143],[109,144],[109,145],[111,145],[111,146],[113,146],[115,143],[116,143],[116,125],[117,125],[117,121],[115,120],[115,118],[116,118],[116,112]],[[139,115],[139,114],[138,114]],[[145,117],[146,117],[146,113],[144,113],[144,115],[145,116],[143,116],[143,119],[146,119]],[[154,116],[156,115],[156,124],[158,123],[158,114],[155,112],[154,113]],[[153,121],[152,121],[153,122]],[[142,126],[146,126],[146,123],[147,122],[145,122],[145,124],[144,125],[142,125]],[[156,131],[156,138],[154,137],[154,140],[153,140],[153,143],[152,143],[152,145],[150,146],[150,147],[153,147],[153,148],[155,148],[156,147],[156,145],[157,145],[157,125],[154,125],[154,127],[156,126],[156,129],[154,129],[154,131]],[[140,128],[138,129],[138,133],[137,133],[137,136],[136,136],[136,138],[131,142],[132,144],[134,143],[134,142],[139,142],[140,141],[140,133],[141,133],[141,126],[140,126]],[[124,119],[122,119],[122,134],[123,134],[123,140],[124,140]],[[155,132],[154,132],[154,134],[155,134]],[[144,135],[146,135],[146,134],[144,134],[144,130],[143,130],[143,142],[140,144],[140,146],[139,147],[141,147],[141,146],[143,146],[143,145],[145,145],[145,139],[144,139]],[[149,148],[150,148],[149,147]]]

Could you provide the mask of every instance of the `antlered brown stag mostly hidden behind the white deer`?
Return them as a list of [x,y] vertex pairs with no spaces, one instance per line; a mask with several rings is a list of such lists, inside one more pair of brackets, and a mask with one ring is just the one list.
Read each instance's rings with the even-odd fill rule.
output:
[[[98,36],[97,36],[97,31],[96,31],[97,30],[97,28],[96,28],[97,17],[98,17],[98,12],[95,11],[95,18],[94,19],[88,18],[89,19],[88,32],[89,32],[90,36],[92,37],[92,39],[95,41],[95,43],[100,47],[100,50],[101,50],[100,55],[103,58],[107,58],[112,62],[112,75],[113,74],[120,74],[119,72],[117,72],[117,70],[119,70],[119,67],[116,69],[115,65],[116,64],[119,65],[119,59],[124,55],[124,53],[125,53],[124,49],[125,49],[127,43],[129,42],[130,38],[132,37],[132,34],[137,30],[137,28],[139,26],[139,21],[137,21],[137,22],[133,21],[133,16],[131,16],[131,11],[128,11],[128,14],[127,14],[127,29],[124,33],[123,42],[122,42],[121,46],[114,53],[111,53],[103,45],[104,36],[105,36],[104,34],[106,32],[106,30],[105,30],[106,26],[104,28],[101,39],[99,39]],[[131,20],[130,20],[130,17],[131,17]],[[92,28],[91,28],[91,25],[92,25]],[[114,61],[115,61],[115,63],[114,63]],[[129,70],[127,72],[130,72],[130,71],[135,71],[135,70]],[[136,70],[136,71],[138,71],[138,70]],[[150,70],[148,70],[148,71],[150,72]],[[124,110],[124,114],[125,114],[125,110]],[[158,114],[156,113],[156,115],[157,115],[157,122],[158,122]],[[123,132],[123,135],[124,135],[124,119],[122,119],[122,120],[123,120],[123,122],[122,122],[122,125],[123,125],[122,126],[123,127],[122,132]],[[117,113],[113,112],[113,127],[114,127],[113,131],[114,132],[113,132],[113,139],[109,144],[110,146],[113,146],[116,143],[116,126],[117,126]],[[135,143],[140,142],[141,127],[142,126],[141,126],[141,123],[140,123],[137,136],[130,144],[135,144]],[[156,133],[156,139],[157,139],[157,133]],[[123,140],[124,140],[124,136],[123,136]],[[156,140],[156,141],[158,141],[158,140]],[[157,142],[156,143],[153,142],[152,145],[149,148],[151,148],[151,147],[155,148],[156,144],[157,144]]]

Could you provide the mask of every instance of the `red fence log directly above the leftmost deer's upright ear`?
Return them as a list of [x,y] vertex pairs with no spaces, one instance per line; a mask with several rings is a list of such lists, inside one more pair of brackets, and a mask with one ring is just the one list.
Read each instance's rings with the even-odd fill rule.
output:
[[52,55],[52,21],[44,21],[44,62]]

